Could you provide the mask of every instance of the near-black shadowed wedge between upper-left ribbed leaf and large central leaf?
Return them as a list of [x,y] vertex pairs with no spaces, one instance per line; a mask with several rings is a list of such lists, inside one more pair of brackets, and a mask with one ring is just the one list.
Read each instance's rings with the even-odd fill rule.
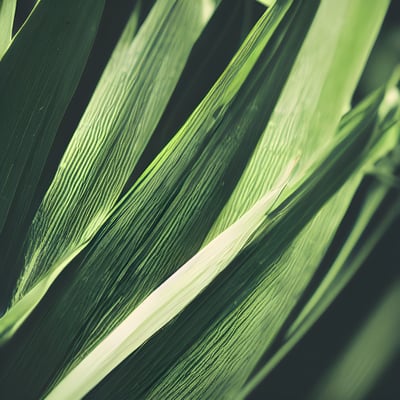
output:
[[152,141],[131,178],[133,182],[182,127],[232,60],[258,20],[256,16],[252,16],[254,20],[250,16],[245,20],[243,18],[243,15],[247,16],[253,8],[256,8],[260,17],[263,12],[261,6],[255,7],[246,0],[234,4],[231,0],[221,1],[193,47]]

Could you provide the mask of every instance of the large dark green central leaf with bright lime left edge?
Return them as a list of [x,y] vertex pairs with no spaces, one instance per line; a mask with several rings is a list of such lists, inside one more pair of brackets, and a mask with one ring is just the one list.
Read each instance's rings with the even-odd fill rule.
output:
[[[70,272],[72,281],[61,290],[57,285],[47,297],[57,300],[44,299],[21,328],[18,349],[4,358],[2,384],[17,386],[13,381],[22,373],[28,378],[17,390],[39,396],[198,251],[265,127],[317,5],[283,1],[267,11],[202,104],[59,280]],[[68,326],[60,329],[59,318],[68,318]],[[50,331],[55,340],[42,342]],[[41,360],[33,357],[35,348]]]

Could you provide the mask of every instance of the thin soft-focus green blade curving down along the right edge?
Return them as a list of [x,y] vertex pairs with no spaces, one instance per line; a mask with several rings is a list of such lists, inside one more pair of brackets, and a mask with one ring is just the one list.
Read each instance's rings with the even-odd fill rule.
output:
[[[398,146],[400,141],[399,99],[398,90],[395,87],[389,87],[379,110],[379,121],[376,128],[379,132],[385,133],[385,140],[381,140],[379,145],[376,146],[370,165],[365,169],[367,178],[372,175],[372,178],[366,180],[372,182],[364,184],[364,186],[367,186],[367,189],[364,189],[367,194],[358,211],[358,218],[354,222],[345,243],[342,244],[331,268],[323,274],[322,282],[301,310],[296,321],[288,329],[287,337],[290,337],[299,329],[300,325],[304,324],[304,319],[307,318],[308,314],[317,314],[317,316],[322,314],[328,304],[347,284],[350,277],[354,275],[400,210],[396,206],[397,196],[394,196],[394,199],[390,201],[391,205],[388,203],[388,198],[393,197],[393,188],[398,186],[396,173],[400,166]],[[384,211],[380,210],[381,208]],[[375,220],[376,217],[374,218],[377,214],[380,215],[377,218],[378,222]],[[371,225],[373,226],[372,232],[370,232]],[[316,316],[311,317],[313,322],[316,318]],[[306,325],[308,327],[310,324]]]

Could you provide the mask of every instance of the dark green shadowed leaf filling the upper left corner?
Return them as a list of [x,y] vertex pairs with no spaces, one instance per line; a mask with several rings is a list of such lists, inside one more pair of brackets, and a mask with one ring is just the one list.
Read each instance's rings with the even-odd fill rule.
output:
[[[2,132],[5,132],[4,136],[2,136],[2,145],[7,150],[2,153],[1,160],[2,205],[0,209],[0,228],[4,226],[7,212],[15,195],[16,182],[21,178],[22,167],[27,162],[28,152],[35,139],[34,134],[38,134],[41,129],[47,128],[50,130],[51,128],[53,130],[57,127],[77,84],[94,38],[94,32],[103,9],[103,2],[93,5],[90,17],[86,14],[89,6],[91,6],[89,3],[87,7],[82,7],[75,4],[75,2],[70,2],[63,8],[56,9],[51,2],[42,0],[35,7],[33,14],[17,34],[12,46],[0,62],[0,85],[2,88],[2,96],[0,98],[2,109],[1,129]],[[79,19],[74,18],[76,9],[80,9],[81,17]],[[83,31],[81,31],[82,27],[80,26],[82,20],[86,21],[87,26],[86,30],[83,29]],[[45,25],[47,30],[41,30],[40,26],[43,23],[47,24]],[[63,85],[65,86],[63,86],[61,85],[60,75],[61,71],[65,73],[65,58],[70,55],[68,51],[71,51],[72,46],[60,52],[60,43],[64,42],[66,36],[73,37],[78,33],[80,35],[85,35],[86,33],[87,40],[83,42],[82,47],[74,48],[75,58],[72,58],[72,60],[77,61],[69,65],[68,75],[75,79],[72,80],[73,83],[64,83]],[[37,45],[35,47],[28,45],[32,35],[37,37]],[[49,37],[53,37],[52,40],[49,41]],[[43,42],[47,43],[48,46],[45,47]],[[78,50],[82,52],[83,61],[78,57]],[[31,62],[28,64],[27,60],[30,58]],[[48,62],[45,63],[45,60],[48,60]],[[47,70],[43,69],[43,65],[46,66]],[[38,77],[35,75],[37,71],[41,71]],[[26,81],[18,80],[17,74],[25,75],[27,82],[29,82],[28,86]],[[57,88],[58,85],[61,85],[61,87]],[[62,93],[63,96],[61,96],[60,89],[66,90],[67,93]],[[39,93],[39,96],[37,93]],[[45,99],[46,94],[48,95],[47,99]],[[52,121],[49,122],[50,126],[47,127],[42,121],[42,114],[44,111],[51,111],[50,109],[48,110],[49,102],[57,99],[57,95],[61,97],[57,100],[58,107],[51,106],[51,110],[57,110],[57,115],[52,115]],[[40,104],[38,105],[37,103]],[[33,107],[33,105],[36,106]],[[23,114],[21,114],[21,111]],[[18,121],[18,123],[15,121]],[[28,129],[33,130],[34,134],[29,137],[22,135],[22,137],[15,138],[12,136],[13,132],[19,132],[21,129],[26,136]],[[22,167],[17,167],[18,165],[22,165]]]

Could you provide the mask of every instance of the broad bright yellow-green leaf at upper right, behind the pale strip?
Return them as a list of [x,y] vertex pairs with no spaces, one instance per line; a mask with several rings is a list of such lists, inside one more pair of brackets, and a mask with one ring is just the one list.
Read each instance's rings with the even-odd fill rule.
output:
[[271,190],[290,159],[299,157],[301,173],[332,140],[389,3],[322,1],[266,131],[206,242]]

